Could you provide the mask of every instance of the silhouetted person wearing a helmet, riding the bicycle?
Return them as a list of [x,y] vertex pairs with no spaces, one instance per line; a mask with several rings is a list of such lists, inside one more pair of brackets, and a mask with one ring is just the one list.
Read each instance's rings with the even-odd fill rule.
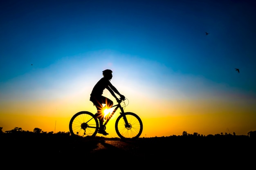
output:
[[[110,79],[112,79],[112,71],[109,69],[106,69],[102,71],[103,77],[97,82],[97,84],[92,89],[92,93],[90,96],[90,101],[96,106],[97,113],[95,114],[95,117],[99,119],[99,131],[98,133],[103,135],[108,135],[108,133],[104,130],[103,127],[103,121],[104,121],[104,109],[105,108],[111,108],[113,106],[113,101],[108,99],[107,97],[103,96],[103,90],[106,88],[111,93],[112,96],[115,97],[117,101],[119,99],[115,95],[117,93],[120,96],[121,100],[124,100],[124,95],[121,95],[119,91],[117,91],[117,88],[115,88],[111,83]],[[114,93],[115,92],[115,93]],[[102,104],[106,104],[104,107]]]

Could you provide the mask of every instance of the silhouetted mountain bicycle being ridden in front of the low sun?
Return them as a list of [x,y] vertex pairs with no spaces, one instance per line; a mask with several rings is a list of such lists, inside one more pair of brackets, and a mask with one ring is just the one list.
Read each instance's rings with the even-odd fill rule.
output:
[[[124,106],[121,106],[122,102],[124,103]],[[135,113],[124,112],[124,109],[127,105],[125,104],[124,100],[121,100],[120,98],[120,100],[117,101],[117,104],[111,107],[115,108],[105,120],[103,128],[104,130],[106,130],[106,125],[108,124],[108,121],[119,108],[121,112],[115,122],[115,130],[117,132],[117,135],[121,139],[137,139],[139,138],[143,130],[142,121],[140,117]],[[81,137],[95,137],[99,130],[99,121],[94,116],[94,114],[88,111],[80,111],[73,115],[73,117],[70,119],[69,128],[71,135]]]

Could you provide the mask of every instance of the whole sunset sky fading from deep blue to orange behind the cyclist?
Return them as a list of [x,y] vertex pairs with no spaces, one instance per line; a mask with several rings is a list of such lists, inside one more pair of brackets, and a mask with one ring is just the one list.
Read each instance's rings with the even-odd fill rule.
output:
[[96,113],[104,69],[141,137],[256,130],[254,1],[2,0],[0,16],[3,131],[68,132],[75,113]]

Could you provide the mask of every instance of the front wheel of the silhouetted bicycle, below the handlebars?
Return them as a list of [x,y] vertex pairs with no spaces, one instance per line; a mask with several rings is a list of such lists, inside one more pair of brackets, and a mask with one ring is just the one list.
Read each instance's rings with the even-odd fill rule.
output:
[[[124,117],[126,117],[128,121],[127,125],[124,121]],[[117,117],[115,129],[121,139],[137,139],[142,133],[143,125],[138,115],[126,112]]]

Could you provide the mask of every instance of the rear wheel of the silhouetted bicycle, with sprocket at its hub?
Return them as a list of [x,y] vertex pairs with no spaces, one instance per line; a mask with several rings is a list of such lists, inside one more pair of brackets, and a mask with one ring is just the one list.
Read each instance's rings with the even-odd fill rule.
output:
[[81,137],[94,137],[99,130],[99,121],[87,111],[76,113],[70,120],[70,133]]

